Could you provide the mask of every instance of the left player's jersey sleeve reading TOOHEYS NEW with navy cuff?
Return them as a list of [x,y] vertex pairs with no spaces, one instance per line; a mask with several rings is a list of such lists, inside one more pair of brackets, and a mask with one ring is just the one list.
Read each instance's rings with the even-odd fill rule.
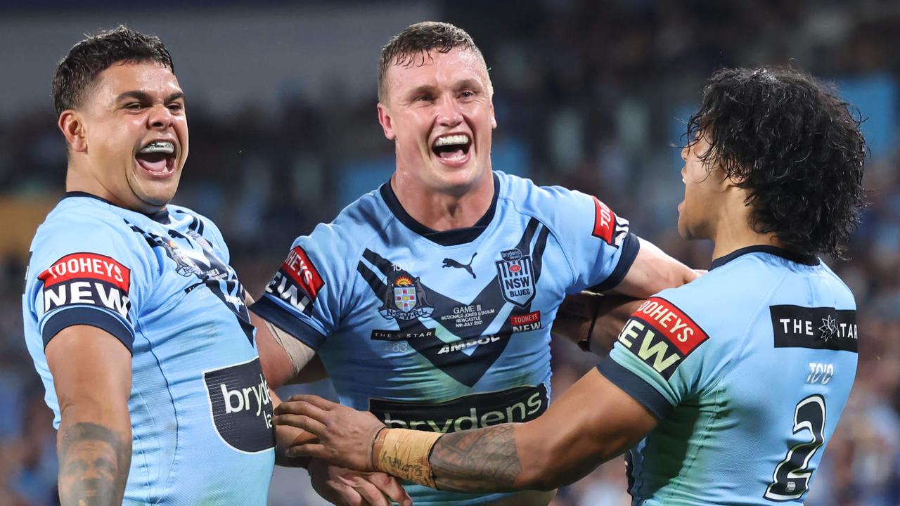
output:
[[153,267],[122,222],[73,216],[44,225],[32,245],[28,312],[46,348],[60,330],[89,325],[131,351]]

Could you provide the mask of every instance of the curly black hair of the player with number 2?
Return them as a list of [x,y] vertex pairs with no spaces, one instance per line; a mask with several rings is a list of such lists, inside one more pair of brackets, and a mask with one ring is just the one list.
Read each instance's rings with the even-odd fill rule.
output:
[[751,226],[785,247],[845,258],[860,222],[868,154],[859,110],[793,68],[726,68],[703,90],[689,144],[749,193]]

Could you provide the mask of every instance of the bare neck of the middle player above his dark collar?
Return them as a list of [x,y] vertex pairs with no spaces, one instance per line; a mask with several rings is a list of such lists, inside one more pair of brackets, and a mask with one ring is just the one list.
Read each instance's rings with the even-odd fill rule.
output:
[[418,178],[395,173],[391,188],[413,220],[437,231],[472,227],[488,212],[494,198],[491,172],[459,191],[428,188]]

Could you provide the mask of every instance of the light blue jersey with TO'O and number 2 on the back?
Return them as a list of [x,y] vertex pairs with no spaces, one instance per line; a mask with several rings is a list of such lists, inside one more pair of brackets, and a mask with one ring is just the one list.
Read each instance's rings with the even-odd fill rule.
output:
[[632,504],[802,504],[856,362],[853,295],[815,257],[742,248],[653,296],[599,365],[660,419]]

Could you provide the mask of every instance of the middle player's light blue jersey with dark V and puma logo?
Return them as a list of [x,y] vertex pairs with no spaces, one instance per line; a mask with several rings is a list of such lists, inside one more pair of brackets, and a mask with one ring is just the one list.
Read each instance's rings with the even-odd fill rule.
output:
[[[557,307],[617,285],[638,241],[589,195],[502,173],[494,188],[473,228],[437,232],[383,185],[296,239],[252,311],[317,349],[341,402],[389,427],[535,419]],[[502,497],[408,491],[423,506]]]

